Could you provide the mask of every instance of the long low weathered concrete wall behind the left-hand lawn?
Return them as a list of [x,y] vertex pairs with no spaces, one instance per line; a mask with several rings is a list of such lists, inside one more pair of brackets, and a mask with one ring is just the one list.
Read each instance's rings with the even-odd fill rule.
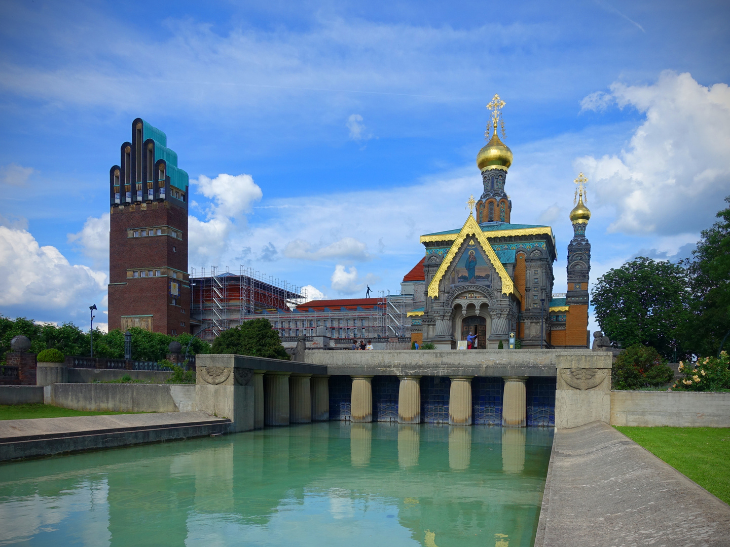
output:
[[46,404],[83,411],[190,412],[195,386],[185,384],[51,384]]

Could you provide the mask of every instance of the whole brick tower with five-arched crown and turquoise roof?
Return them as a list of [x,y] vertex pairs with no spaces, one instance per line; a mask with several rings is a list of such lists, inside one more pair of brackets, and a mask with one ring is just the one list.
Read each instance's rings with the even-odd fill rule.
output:
[[109,328],[190,332],[188,174],[140,118],[110,169]]

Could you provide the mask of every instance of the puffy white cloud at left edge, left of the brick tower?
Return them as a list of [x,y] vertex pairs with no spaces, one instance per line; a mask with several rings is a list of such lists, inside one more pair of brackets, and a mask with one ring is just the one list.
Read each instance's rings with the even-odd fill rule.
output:
[[39,246],[26,230],[0,226],[0,284],[0,306],[68,311],[106,292],[107,274],[71,265],[58,249]]

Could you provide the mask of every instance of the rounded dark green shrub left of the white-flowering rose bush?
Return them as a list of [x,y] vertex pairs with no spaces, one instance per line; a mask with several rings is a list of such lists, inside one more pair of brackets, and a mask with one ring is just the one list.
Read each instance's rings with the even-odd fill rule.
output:
[[622,352],[611,371],[612,389],[657,387],[672,381],[669,368],[653,347],[634,344]]

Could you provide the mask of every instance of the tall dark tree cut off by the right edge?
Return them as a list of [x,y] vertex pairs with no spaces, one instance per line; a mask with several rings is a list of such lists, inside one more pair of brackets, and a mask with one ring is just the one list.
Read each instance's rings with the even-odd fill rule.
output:
[[716,355],[723,338],[730,345],[730,195],[720,222],[702,230],[693,258],[687,261],[693,296],[685,336],[698,355]]

